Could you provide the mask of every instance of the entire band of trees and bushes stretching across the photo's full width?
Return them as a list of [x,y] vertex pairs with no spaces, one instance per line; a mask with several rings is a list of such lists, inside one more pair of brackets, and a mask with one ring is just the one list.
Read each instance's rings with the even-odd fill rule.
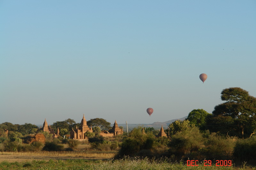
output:
[[[99,134],[101,130],[110,129],[110,123],[101,118],[91,119],[87,125],[92,125],[93,132],[86,132],[91,149],[105,151],[119,149],[116,158],[124,156],[142,157],[170,157],[173,161],[198,159],[198,160],[234,160],[236,164],[247,162],[255,165],[256,157],[256,98],[239,87],[224,89],[221,92],[224,103],[214,107],[212,114],[203,109],[194,109],[184,121],[172,122],[165,129],[167,137],[156,137],[159,133],[154,128],[134,128],[127,137],[117,136],[109,141]],[[69,133],[72,128],[80,126],[72,119],[55,122],[52,128],[63,134]],[[8,129],[8,135],[4,132]],[[55,130],[54,129],[54,130]],[[48,139],[45,144],[25,143],[26,134],[38,133],[34,125],[13,125],[12,123],[0,124],[0,151],[47,150],[63,151],[63,144],[68,144],[70,150],[76,149],[77,141],[63,139]],[[25,135],[24,135],[25,134]],[[49,135],[49,134],[48,134]],[[23,146],[23,149],[22,149]],[[26,147],[24,148],[24,146]],[[21,149],[19,149],[21,147]]]

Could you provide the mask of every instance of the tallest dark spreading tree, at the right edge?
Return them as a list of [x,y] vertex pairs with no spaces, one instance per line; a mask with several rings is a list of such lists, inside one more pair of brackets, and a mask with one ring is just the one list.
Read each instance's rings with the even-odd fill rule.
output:
[[221,124],[225,122],[223,120],[228,120],[228,130],[238,137],[251,137],[255,134],[256,98],[240,87],[231,87],[222,90],[221,100],[226,102],[214,107],[213,118],[208,122],[213,120],[212,125],[218,125],[218,122]]

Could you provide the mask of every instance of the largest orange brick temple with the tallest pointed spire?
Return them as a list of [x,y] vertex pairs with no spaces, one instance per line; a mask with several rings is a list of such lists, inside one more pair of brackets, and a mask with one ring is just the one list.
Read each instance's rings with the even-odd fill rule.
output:
[[87,126],[86,119],[83,116],[81,126],[79,128],[76,126],[75,130],[72,128],[70,131],[70,139],[87,139],[87,137],[84,136],[84,133],[87,131],[92,132],[92,126],[91,128]]

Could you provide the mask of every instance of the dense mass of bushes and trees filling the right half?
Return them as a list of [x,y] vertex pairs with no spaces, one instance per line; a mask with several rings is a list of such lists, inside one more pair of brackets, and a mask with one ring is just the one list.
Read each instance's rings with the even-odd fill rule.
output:
[[165,130],[167,137],[156,138],[133,129],[124,137],[118,157],[168,156],[173,161],[234,160],[255,165],[256,98],[239,87],[224,89],[225,101],[212,114],[194,109],[184,121],[175,121]]

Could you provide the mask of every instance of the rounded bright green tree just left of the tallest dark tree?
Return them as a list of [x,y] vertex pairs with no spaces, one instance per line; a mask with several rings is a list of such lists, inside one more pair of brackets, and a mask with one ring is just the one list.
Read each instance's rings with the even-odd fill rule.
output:
[[207,116],[210,115],[211,114],[206,112],[204,109],[194,109],[188,114],[188,118],[186,120],[189,120],[190,123],[193,123],[200,129],[202,129],[206,124]]

